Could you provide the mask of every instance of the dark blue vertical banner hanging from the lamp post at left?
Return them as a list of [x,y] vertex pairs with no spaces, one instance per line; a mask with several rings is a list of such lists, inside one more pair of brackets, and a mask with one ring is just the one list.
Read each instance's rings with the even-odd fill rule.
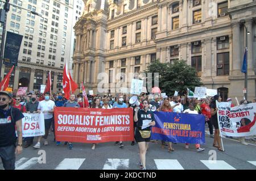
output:
[[20,44],[22,43],[22,38],[22,35],[7,31],[3,64],[9,66],[18,64],[19,49]]

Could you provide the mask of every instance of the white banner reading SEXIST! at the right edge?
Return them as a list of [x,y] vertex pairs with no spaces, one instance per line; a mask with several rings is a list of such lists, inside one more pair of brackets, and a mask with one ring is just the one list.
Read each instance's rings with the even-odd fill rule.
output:
[[256,103],[231,107],[228,102],[216,104],[221,132],[224,136],[243,137],[256,134]]

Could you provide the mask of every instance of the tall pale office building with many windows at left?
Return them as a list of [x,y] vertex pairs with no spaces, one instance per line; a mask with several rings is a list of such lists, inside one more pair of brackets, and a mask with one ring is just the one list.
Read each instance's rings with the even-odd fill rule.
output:
[[[23,35],[18,66],[10,78],[10,87],[13,87],[13,90],[18,87],[40,90],[40,85],[46,85],[48,72],[51,70],[52,92],[62,91],[63,67],[73,54],[73,11],[79,10],[74,1],[77,2],[10,0],[10,3],[18,7],[10,6],[6,31]],[[3,4],[0,2],[2,8]],[[42,17],[19,7],[38,12]],[[9,66],[3,65],[1,77],[9,70]]]

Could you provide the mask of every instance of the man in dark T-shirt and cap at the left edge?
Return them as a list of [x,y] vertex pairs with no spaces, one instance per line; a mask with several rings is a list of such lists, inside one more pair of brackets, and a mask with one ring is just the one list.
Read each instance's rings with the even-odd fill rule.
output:
[[[0,91],[0,157],[6,170],[15,169],[15,154],[22,153],[22,112],[10,106],[12,96]],[[16,146],[15,126],[18,134]]]

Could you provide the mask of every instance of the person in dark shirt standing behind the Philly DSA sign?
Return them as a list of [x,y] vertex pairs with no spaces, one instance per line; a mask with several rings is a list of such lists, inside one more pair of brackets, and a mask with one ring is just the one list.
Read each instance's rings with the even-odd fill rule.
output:
[[[38,110],[38,100],[36,100],[36,95],[31,95],[31,100],[26,104],[26,110],[27,113],[37,113]],[[26,138],[26,145],[24,145],[24,148],[28,148],[30,145],[33,144],[34,137],[27,137]]]

